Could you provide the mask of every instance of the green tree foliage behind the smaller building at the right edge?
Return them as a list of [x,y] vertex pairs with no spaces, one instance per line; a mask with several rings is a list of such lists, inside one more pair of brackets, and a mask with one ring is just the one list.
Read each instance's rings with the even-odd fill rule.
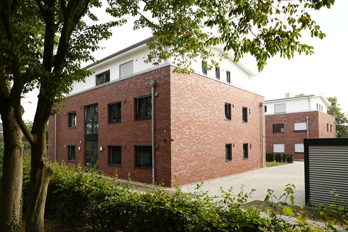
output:
[[328,114],[334,116],[336,122],[336,133],[337,138],[348,137],[348,131],[345,128],[345,125],[348,124],[348,119],[345,113],[342,113],[342,108],[338,103],[336,97],[328,97],[328,101],[331,103],[331,106],[328,107]]

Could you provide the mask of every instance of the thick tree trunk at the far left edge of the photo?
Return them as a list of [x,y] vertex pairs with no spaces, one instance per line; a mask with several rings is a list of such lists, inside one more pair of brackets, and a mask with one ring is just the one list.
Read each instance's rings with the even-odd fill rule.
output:
[[[1,97],[0,97],[1,99]],[[23,179],[22,135],[8,101],[0,100],[4,154],[0,193],[0,231],[18,231]]]

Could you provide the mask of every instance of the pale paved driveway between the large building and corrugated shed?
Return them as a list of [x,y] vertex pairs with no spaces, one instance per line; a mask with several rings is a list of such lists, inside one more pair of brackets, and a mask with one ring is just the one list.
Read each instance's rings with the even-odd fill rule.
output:
[[[205,182],[202,190],[208,191],[208,194],[211,196],[220,196],[220,187],[228,191],[233,186],[233,192],[237,195],[242,185],[244,185],[244,193],[256,189],[251,198],[249,198],[249,202],[264,200],[267,189],[272,189],[276,196],[281,196],[284,193],[285,186],[289,183],[294,184],[296,187],[294,192],[295,205],[305,205],[304,162],[301,161]],[[193,192],[195,187],[196,185],[187,186],[182,188],[182,191]]]

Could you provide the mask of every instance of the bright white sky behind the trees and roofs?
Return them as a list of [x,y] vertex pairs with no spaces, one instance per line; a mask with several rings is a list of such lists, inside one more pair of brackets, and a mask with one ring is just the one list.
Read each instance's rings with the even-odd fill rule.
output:
[[[312,18],[321,26],[326,38],[311,38],[302,33],[303,42],[314,47],[314,55],[295,55],[291,60],[272,57],[267,61],[263,71],[256,77],[248,89],[259,93],[265,100],[285,98],[285,93],[294,97],[298,93],[324,94],[337,97],[342,112],[348,111],[348,0],[336,0],[331,9],[311,12]],[[100,60],[108,55],[127,48],[151,36],[149,30],[134,31],[132,25],[113,29],[113,37],[103,41],[104,50],[93,53]],[[256,63],[246,58],[245,62],[257,70]],[[87,64],[82,64],[85,67]],[[24,120],[33,121],[38,91],[24,99]]]

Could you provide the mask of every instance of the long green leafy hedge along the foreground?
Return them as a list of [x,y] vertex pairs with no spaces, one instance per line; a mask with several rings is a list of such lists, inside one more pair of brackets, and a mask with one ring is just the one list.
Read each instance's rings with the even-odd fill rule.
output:
[[[23,201],[28,192],[30,164],[24,161]],[[27,167],[29,166],[29,168]],[[246,209],[252,193],[233,194],[233,189],[223,191],[222,197],[209,197],[199,192],[183,193],[179,186],[168,192],[161,186],[143,192],[131,188],[117,178],[97,175],[93,170],[75,168],[65,164],[52,166],[46,200],[46,214],[69,223],[73,227],[86,227],[91,231],[335,231],[334,227],[318,227],[299,216],[296,222],[276,215],[269,206],[267,215],[260,209]],[[286,186],[279,198],[268,191],[266,201],[277,199],[285,215],[293,214],[293,188]],[[285,203],[290,199],[291,204]],[[283,201],[283,202],[282,202]],[[347,215],[345,215],[347,217]],[[335,222],[330,221],[331,224]],[[348,228],[343,228],[347,230]]]

